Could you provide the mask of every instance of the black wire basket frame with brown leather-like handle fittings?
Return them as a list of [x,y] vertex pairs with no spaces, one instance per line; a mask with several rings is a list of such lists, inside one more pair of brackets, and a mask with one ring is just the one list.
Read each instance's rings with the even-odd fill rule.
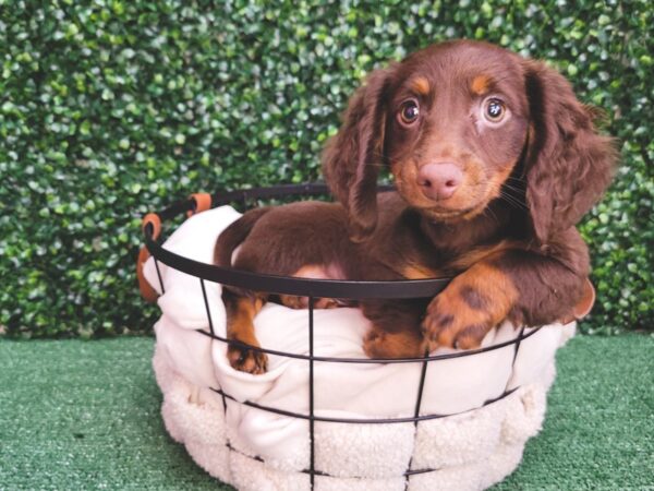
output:
[[[384,188],[380,188],[383,190]],[[182,255],[170,252],[161,247],[158,242],[161,223],[164,220],[172,219],[181,214],[191,216],[195,213],[221,206],[226,204],[241,203],[247,204],[257,200],[271,200],[271,199],[286,199],[289,196],[308,196],[308,195],[325,195],[328,193],[327,187],[320,183],[308,183],[308,184],[289,184],[289,185],[277,185],[271,188],[255,188],[247,190],[230,191],[230,192],[218,192],[214,195],[208,194],[193,194],[189,200],[178,202],[170,207],[159,213],[147,214],[143,219],[143,233],[145,248],[142,249],[138,263],[137,273],[142,294],[148,300],[156,298],[156,292],[147,284],[143,277],[143,264],[145,260],[152,255],[155,262],[160,291],[165,292],[164,282],[159,271],[159,263],[164,263],[169,267],[178,270],[194,276],[199,282],[203,292],[204,304],[207,313],[207,324],[209,331],[197,330],[204,336],[211,338],[215,342],[239,345],[247,349],[252,349],[268,355],[275,355],[279,357],[294,358],[306,361],[308,363],[308,414],[293,412],[280,408],[270,406],[264,406],[254,402],[245,400],[238,402],[233,396],[226,393],[221,387],[211,387],[211,390],[218,393],[222,397],[223,409],[227,411],[227,402],[233,402],[235,404],[243,404],[249,407],[261,409],[277,415],[282,415],[291,418],[300,418],[308,421],[308,434],[310,434],[310,462],[307,467],[302,470],[310,476],[311,489],[314,488],[316,476],[329,476],[326,472],[315,468],[315,432],[314,423],[320,422],[336,422],[336,423],[407,423],[413,422],[417,426],[420,421],[446,418],[455,415],[444,414],[427,414],[421,415],[421,402],[423,397],[423,388],[426,382],[427,363],[436,363],[440,360],[447,360],[451,358],[471,357],[482,352],[493,351],[496,349],[505,348],[507,346],[513,346],[513,364],[518,356],[520,344],[523,339],[534,335],[540,327],[525,332],[524,328],[518,331],[514,338],[486,346],[480,349],[467,350],[467,351],[455,351],[443,355],[431,356],[425,354],[424,357],[420,358],[397,358],[397,359],[371,359],[371,358],[332,358],[332,357],[320,357],[314,356],[314,300],[317,298],[339,298],[348,300],[361,300],[361,299],[411,299],[411,298],[431,298],[435,297],[449,283],[449,278],[434,278],[434,279],[415,279],[415,280],[396,280],[396,282],[352,282],[352,280],[331,280],[331,279],[306,279],[287,276],[275,276],[255,274],[244,271],[237,271],[231,268],[225,268],[213,264],[206,264],[197,262]],[[245,289],[269,292],[275,295],[292,295],[308,297],[308,309],[307,309],[307,338],[308,338],[308,355],[302,355],[296,352],[283,352],[274,349],[267,349],[265,347],[251,346],[241,342],[227,339],[217,335],[214,331],[214,320],[211,319],[209,301],[206,295],[205,282],[214,282],[221,285],[230,285],[234,287],[241,287]],[[400,418],[329,418],[318,416],[314,412],[314,363],[315,362],[327,362],[327,363],[422,363],[420,379],[416,380],[419,386],[417,396],[415,399],[415,406],[413,416],[400,417]],[[507,380],[507,388],[499,396],[486,400],[483,406],[493,404],[500,400],[508,395],[516,392],[519,387],[509,387],[509,381],[512,376],[512,370]],[[459,412],[460,414],[460,412]],[[230,446],[229,442],[227,445],[231,451],[234,451]],[[259,457],[253,457],[256,460],[263,462]],[[404,472],[404,478],[408,479],[410,476],[432,472],[438,469],[422,468],[412,469],[411,463],[409,468]]]

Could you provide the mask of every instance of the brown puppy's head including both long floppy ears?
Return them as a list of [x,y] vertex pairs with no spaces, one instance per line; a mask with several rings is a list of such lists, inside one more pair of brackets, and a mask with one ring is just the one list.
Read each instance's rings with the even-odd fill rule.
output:
[[557,72],[485,43],[450,41],[371,74],[324,172],[358,240],[375,229],[377,172],[389,166],[407,204],[434,221],[470,219],[504,199],[529,207],[546,242],[598,199],[614,159]]

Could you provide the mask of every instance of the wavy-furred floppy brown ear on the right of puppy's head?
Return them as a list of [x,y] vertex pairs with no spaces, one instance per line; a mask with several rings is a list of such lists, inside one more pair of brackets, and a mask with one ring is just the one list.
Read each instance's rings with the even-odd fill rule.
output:
[[531,128],[526,152],[526,204],[541,244],[576,225],[613,178],[617,151],[600,135],[596,113],[568,81],[538,61],[524,61]]

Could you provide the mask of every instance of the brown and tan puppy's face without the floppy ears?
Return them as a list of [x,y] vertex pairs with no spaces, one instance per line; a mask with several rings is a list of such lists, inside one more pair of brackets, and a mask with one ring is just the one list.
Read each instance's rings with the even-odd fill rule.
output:
[[436,45],[397,67],[388,95],[384,153],[409,206],[450,221],[499,196],[530,117],[517,56],[485,44]]

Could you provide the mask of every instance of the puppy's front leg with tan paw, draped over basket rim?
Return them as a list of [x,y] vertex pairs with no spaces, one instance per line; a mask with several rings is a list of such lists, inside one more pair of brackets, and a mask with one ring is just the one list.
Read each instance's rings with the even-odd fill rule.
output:
[[588,250],[573,235],[552,251],[506,250],[457,276],[427,307],[423,331],[429,348],[471,349],[505,319],[544,325],[570,316],[582,300]]

